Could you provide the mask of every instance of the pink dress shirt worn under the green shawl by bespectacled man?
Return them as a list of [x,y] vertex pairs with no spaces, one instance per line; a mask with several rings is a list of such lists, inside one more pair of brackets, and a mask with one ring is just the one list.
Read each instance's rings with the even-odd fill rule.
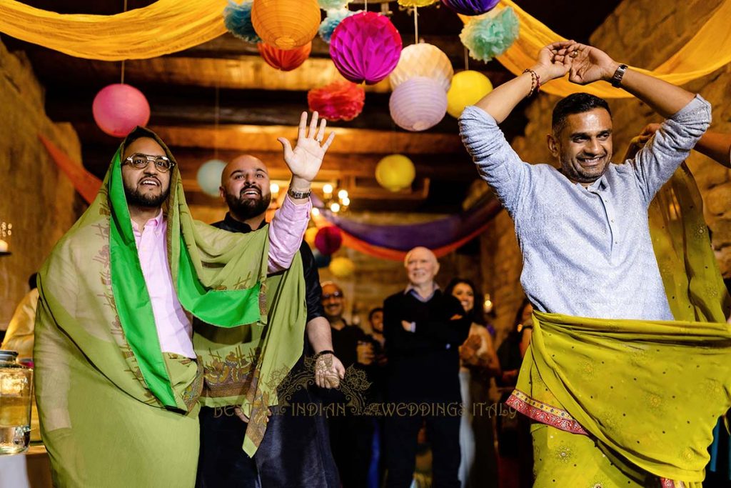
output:
[[[287,269],[292,264],[310,219],[310,209],[309,202],[296,205],[289,196],[284,198],[269,225],[269,273]],[[166,353],[195,358],[193,327],[175,294],[173,276],[167,264],[166,230],[167,222],[162,217],[162,210],[157,217],[145,223],[141,232],[137,223],[132,221],[137,255],[150,293],[160,348]]]

